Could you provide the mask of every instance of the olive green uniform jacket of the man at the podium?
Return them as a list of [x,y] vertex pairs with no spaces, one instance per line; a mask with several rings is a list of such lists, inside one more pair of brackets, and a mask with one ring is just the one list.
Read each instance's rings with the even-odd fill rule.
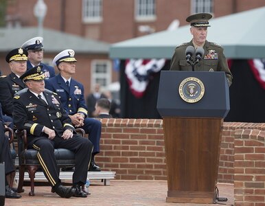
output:
[[[192,71],[192,66],[186,61],[186,48],[192,44],[183,43],[176,47],[174,55],[171,59],[170,70],[171,71]],[[224,52],[220,45],[205,41],[203,46],[205,54],[202,59],[194,66],[194,71],[224,71],[229,86],[232,84],[233,76],[227,65],[227,58],[224,56]],[[195,54],[192,56],[192,60],[196,58]]]

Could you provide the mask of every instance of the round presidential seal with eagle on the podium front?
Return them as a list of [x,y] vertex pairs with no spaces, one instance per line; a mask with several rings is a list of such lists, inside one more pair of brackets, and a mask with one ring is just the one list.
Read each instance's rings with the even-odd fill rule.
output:
[[185,102],[196,103],[203,98],[205,86],[198,78],[185,78],[185,80],[179,84],[178,93]]

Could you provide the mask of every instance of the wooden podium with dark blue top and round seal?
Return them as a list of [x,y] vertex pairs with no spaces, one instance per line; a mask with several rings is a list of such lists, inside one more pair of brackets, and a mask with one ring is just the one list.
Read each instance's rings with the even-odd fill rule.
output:
[[[198,92],[204,91],[200,100],[189,93],[191,87],[192,92],[198,87]],[[184,99],[191,98],[183,100],[180,88]],[[161,71],[157,109],[163,117],[167,203],[215,200],[222,120],[229,108],[224,72]]]

